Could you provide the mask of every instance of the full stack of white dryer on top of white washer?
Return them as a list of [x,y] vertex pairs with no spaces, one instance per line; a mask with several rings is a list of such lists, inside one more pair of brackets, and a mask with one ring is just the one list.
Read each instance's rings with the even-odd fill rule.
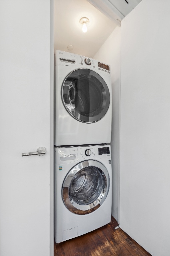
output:
[[110,67],[55,52],[54,230],[56,243],[111,219]]

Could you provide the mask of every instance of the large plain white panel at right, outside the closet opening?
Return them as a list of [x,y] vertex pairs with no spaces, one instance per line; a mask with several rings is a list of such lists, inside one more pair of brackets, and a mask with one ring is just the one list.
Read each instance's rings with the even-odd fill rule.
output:
[[120,227],[170,255],[170,1],[143,0],[121,23]]

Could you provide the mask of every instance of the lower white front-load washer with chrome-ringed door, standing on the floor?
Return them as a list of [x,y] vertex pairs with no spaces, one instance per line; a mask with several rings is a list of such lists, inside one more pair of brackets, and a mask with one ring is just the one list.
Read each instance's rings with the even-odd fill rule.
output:
[[109,145],[55,148],[56,243],[81,236],[111,220]]

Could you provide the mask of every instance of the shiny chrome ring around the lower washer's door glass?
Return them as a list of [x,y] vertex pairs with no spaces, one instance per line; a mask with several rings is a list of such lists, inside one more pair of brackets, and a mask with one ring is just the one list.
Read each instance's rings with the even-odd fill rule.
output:
[[[104,185],[104,187],[101,188],[100,194],[95,199],[95,201],[93,201],[92,203],[86,204],[86,205],[82,205],[82,204],[78,204],[77,202],[74,201],[74,199],[72,198],[72,195],[69,192],[68,184],[69,184],[69,187],[70,187],[70,184],[71,184],[71,181],[72,181],[73,177],[85,167],[97,167],[97,168],[99,168],[99,170],[101,170],[100,173],[102,175],[102,178],[104,179],[104,184],[105,185]],[[74,174],[74,176],[73,176],[73,174]],[[81,214],[87,214],[86,211],[89,211],[89,210],[90,210],[90,212],[95,211],[96,206],[99,207],[104,202],[104,200],[105,200],[105,198],[108,194],[108,191],[109,191],[109,185],[110,185],[109,174],[108,174],[108,171],[107,171],[106,167],[102,163],[100,163],[96,160],[82,161],[79,164],[75,165],[65,177],[65,180],[64,180],[63,186],[62,186],[63,202],[71,212],[75,213],[75,208],[76,208],[76,209],[82,210],[84,212],[84,213],[81,213]],[[66,195],[65,195],[65,197],[63,195],[64,189],[67,189],[67,197],[66,197]],[[72,204],[74,209],[70,209],[70,203]],[[79,213],[77,213],[77,214],[79,214]]]

